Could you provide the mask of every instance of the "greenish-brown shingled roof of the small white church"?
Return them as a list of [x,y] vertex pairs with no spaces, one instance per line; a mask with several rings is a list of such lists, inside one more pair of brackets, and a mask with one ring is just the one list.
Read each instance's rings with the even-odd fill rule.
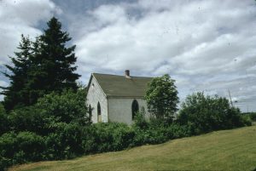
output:
[[108,97],[143,97],[147,84],[153,77],[116,76],[108,74],[92,74]]

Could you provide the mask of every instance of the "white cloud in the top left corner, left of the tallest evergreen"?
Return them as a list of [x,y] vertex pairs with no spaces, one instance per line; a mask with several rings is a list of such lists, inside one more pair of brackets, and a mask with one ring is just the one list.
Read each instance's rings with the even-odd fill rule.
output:
[[50,0],[2,0],[0,1],[0,65],[9,62],[13,55],[20,35],[38,36],[37,28],[41,20],[48,20],[53,14],[61,13]]

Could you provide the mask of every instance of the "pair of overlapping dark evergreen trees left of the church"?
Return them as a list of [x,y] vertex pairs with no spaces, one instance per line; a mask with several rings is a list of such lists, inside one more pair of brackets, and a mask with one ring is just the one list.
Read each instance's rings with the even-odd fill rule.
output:
[[75,46],[66,44],[71,37],[67,31],[61,31],[61,22],[55,17],[47,25],[35,42],[22,36],[20,52],[11,58],[14,66],[6,66],[13,72],[13,75],[4,74],[10,80],[10,86],[3,91],[3,104],[8,110],[19,104],[32,105],[52,91],[78,88],[76,80],[80,76],[74,73],[77,69]]

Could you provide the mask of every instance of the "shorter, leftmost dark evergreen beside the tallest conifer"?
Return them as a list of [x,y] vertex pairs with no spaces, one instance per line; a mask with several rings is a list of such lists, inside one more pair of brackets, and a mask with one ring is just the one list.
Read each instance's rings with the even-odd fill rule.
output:
[[15,105],[28,105],[26,82],[28,71],[31,67],[32,43],[29,37],[21,35],[18,46],[19,52],[15,52],[15,57],[9,57],[11,65],[5,65],[11,74],[4,72],[3,75],[10,80],[9,87],[3,88],[1,94],[4,95],[3,105],[7,110],[13,109]]

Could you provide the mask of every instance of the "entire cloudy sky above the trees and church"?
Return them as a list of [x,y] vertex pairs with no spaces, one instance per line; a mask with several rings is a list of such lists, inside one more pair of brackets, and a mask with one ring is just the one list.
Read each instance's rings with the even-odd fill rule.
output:
[[[256,111],[253,0],[0,0],[0,70],[20,34],[37,37],[55,16],[76,44],[79,81],[91,72],[176,80],[181,100],[196,91]],[[0,86],[8,80],[0,75]],[[1,97],[3,99],[3,97]]]

